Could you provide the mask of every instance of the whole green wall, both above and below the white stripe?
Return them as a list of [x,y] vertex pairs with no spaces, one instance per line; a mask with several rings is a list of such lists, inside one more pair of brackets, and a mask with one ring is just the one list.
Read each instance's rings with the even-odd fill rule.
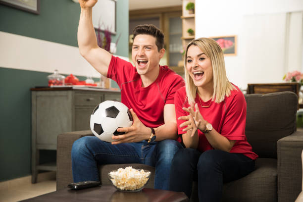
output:
[[[72,0],[41,0],[39,15],[0,4],[0,31],[77,47],[79,16]],[[128,0],[117,0],[116,17],[117,36],[121,33],[116,54],[127,57]],[[31,174],[30,88],[47,86],[50,74],[0,67],[0,181]],[[40,154],[44,162],[55,158],[53,151]]]

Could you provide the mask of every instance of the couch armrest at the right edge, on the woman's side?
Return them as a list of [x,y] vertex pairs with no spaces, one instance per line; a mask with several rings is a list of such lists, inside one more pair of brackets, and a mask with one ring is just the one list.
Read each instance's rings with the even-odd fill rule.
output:
[[302,191],[303,132],[278,140],[278,202],[294,202]]

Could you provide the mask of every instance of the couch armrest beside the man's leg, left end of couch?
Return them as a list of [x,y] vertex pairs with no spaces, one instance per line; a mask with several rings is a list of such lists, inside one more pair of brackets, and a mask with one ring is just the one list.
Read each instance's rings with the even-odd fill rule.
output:
[[71,149],[73,143],[84,136],[92,136],[90,130],[61,133],[57,137],[56,190],[61,190],[73,182]]

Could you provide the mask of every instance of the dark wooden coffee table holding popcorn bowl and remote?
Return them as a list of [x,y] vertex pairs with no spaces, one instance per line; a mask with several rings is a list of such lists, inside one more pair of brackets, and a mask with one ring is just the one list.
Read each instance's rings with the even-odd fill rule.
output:
[[22,202],[189,202],[183,192],[144,188],[140,192],[120,192],[113,186],[83,190],[59,190]]

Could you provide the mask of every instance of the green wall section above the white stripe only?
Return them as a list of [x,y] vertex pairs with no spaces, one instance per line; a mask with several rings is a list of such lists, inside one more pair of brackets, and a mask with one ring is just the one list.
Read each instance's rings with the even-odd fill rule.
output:
[[[117,55],[128,57],[128,0],[117,0]],[[78,47],[79,3],[72,0],[40,0],[40,14],[0,4],[0,31]]]

